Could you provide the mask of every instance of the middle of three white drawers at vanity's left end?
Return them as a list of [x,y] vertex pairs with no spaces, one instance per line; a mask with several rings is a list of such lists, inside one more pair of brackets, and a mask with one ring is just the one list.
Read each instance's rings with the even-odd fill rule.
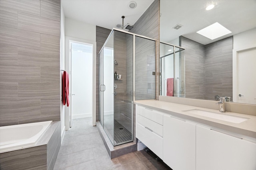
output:
[[150,120],[147,119],[146,117],[143,117],[141,115],[137,115],[137,121],[140,123],[140,125],[148,128],[149,130],[153,131],[160,137],[163,137],[163,126]]

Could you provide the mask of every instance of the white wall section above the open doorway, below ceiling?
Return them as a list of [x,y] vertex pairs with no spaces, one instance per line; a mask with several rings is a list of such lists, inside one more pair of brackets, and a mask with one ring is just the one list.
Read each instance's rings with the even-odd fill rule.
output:
[[90,25],[84,22],[65,19],[65,35],[96,42],[96,25]]

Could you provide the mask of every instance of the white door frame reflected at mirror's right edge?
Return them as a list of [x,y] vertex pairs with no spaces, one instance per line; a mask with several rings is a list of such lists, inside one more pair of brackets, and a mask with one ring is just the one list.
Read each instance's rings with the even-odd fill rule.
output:
[[233,49],[233,102],[238,102],[238,53],[256,48],[249,45],[238,49]]

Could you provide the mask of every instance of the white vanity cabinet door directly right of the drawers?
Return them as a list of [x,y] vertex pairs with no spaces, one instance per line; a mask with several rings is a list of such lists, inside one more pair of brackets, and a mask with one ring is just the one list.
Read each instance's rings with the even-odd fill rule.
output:
[[174,170],[196,169],[196,125],[164,115],[164,159]]

